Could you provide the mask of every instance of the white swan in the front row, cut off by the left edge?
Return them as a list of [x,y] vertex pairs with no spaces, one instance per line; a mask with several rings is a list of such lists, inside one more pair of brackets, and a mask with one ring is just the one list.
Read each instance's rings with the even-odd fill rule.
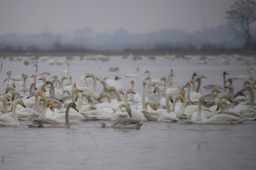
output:
[[[17,99],[13,103],[13,108],[16,108],[18,104],[22,105],[23,107],[26,107],[22,99]],[[20,122],[16,115],[16,109],[12,110],[12,116],[9,116],[6,114],[0,116],[0,126],[19,126],[19,125],[20,125]]]

